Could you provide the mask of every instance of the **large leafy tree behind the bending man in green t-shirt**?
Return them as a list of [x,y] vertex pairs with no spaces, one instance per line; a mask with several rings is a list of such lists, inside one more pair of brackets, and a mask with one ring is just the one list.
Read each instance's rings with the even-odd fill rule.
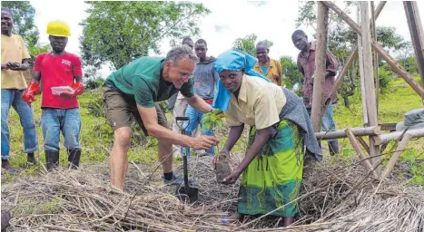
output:
[[202,4],[188,2],[85,2],[88,17],[80,37],[84,65],[110,62],[119,69],[150,50],[159,53],[164,38],[172,43],[199,34],[198,19],[209,14]]

